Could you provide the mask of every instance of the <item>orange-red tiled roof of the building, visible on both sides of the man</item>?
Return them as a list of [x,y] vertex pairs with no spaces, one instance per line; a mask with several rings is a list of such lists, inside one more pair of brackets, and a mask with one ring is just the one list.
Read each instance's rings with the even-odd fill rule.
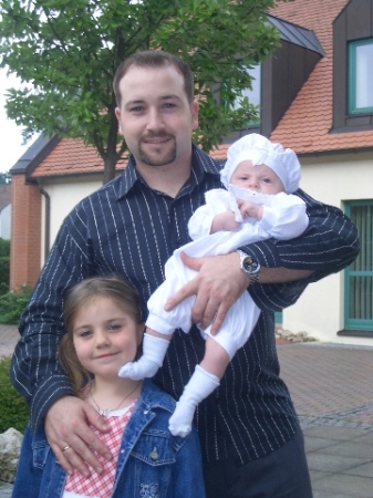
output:
[[[333,21],[349,0],[293,0],[279,2],[270,10],[277,18],[312,30],[325,52],[296,100],[278,124],[271,139],[291,147],[297,154],[373,146],[373,131],[330,134],[332,127]],[[225,159],[228,145],[213,151],[213,157]],[[122,169],[124,163],[117,165]],[[55,176],[101,172],[103,160],[93,147],[80,141],[63,138],[32,173]]]

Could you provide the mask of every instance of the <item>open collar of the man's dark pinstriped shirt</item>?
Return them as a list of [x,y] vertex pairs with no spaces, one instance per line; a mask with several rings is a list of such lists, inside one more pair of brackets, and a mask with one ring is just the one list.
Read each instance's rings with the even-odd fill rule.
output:
[[[196,145],[191,145],[191,175],[199,183],[205,174],[219,175],[224,163],[213,159],[208,154],[204,153]],[[122,173],[122,185],[118,194],[118,198],[128,194],[132,187],[139,181],[136,172],[136,162],[131,154],[127,166]]]

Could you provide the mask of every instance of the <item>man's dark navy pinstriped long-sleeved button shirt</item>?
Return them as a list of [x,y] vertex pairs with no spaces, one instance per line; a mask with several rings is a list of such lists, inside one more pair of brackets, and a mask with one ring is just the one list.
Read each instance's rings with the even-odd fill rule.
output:
[[[204,193],[221,187],[221,164],[193,149],[190,178],[176,198],[152,190],[136,175],[131,158],[125,172],[82,200],[65,218],[21,318],[11,377],[28,400],[35,428],[49,407],[72,394],[55,360],[69,288],[94,274],[118,273],[138,290],[144,318],[146,301],[164,280],[164,264],[174,249],[189,241],[187,221],[204,204]],[[297,301],[304,288],[351,263],[359,251],[355,227],[341,210],[297,191],[308,206],[310,225],[296,240],[267,240],[245,248],[265,267],[313,270],[312,278],[287,284],[256,284],[250,293],[262,313],[220,387],[196,412],[204,456],[227,453],[245,464],[281,447],[298,428],[288,388],[279,378],[273,311]],[[179,397],[205,342],[198,331],[176,332],[155,382]]]

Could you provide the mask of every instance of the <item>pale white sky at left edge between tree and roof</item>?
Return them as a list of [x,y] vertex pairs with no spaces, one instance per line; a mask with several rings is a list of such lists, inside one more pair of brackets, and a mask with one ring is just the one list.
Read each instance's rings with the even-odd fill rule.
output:
[[7,71],[0,69],[0,172],[8,172],[34,141],[32,138],[22,145],[22,128],[7,117],[4,93],[9,87],[17,87],[17,79],[8,77]]

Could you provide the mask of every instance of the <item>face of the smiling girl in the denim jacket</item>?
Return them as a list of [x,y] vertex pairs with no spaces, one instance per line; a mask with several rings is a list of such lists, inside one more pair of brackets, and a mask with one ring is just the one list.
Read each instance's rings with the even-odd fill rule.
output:
[[110,298],[85,303],[73,321],[73,342],[81,364],[95,376],[117,377],[121,366],[134,361],[144,323]]

